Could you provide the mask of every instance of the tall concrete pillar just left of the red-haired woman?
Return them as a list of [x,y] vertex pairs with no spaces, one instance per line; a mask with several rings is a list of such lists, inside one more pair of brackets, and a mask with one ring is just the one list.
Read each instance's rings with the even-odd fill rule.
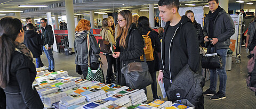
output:
[[65,9],[67,14],[67,26],[68,26],[68,42],[69,47],[74,52],[74,40],[75,40],[75,19],[74,19],[74,5],[73,0],[65,0]]

